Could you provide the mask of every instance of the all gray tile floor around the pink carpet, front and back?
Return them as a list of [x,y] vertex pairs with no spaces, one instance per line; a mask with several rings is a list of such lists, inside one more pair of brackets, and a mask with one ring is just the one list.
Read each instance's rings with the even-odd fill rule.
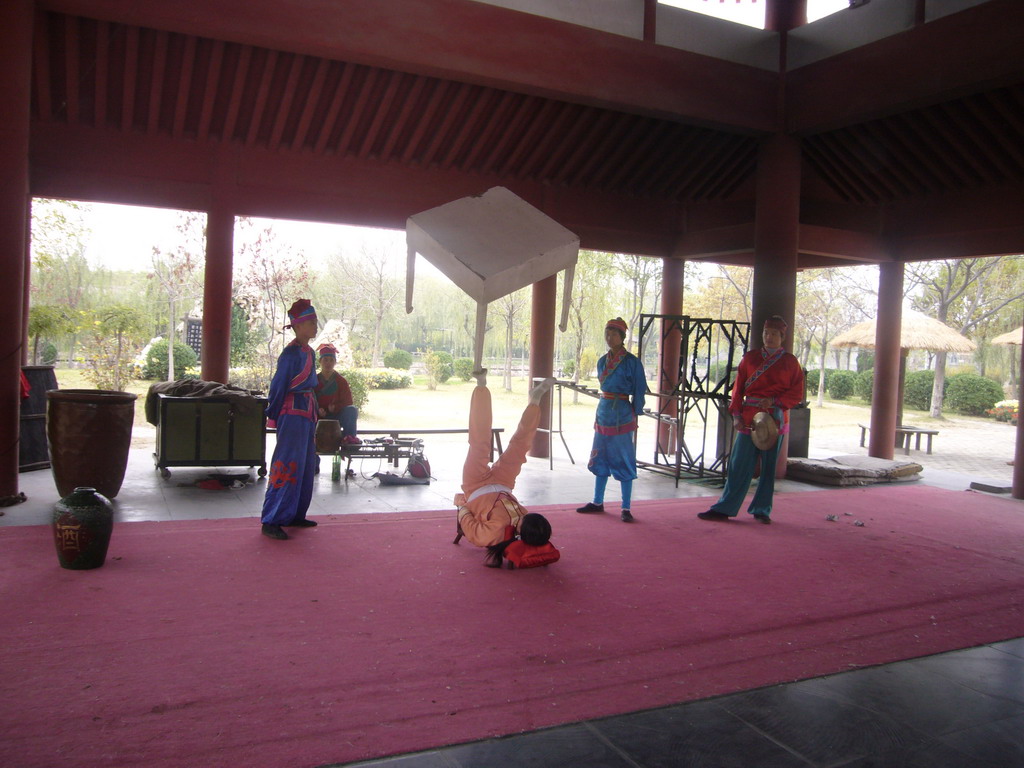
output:
[[[136,430],[124,485],[115,500],[116,519],[185,520],[252,517],[260,513],[265,481],[249,473],[238,489],[203,490],[196,482],[211,472],[241,468],[183,468],[163,479],[155,471],[151,437]],[[979,439],[981,439],[979,437]],[[271,438],[272,440],[272,438]],[[851,450],[853,449],[853,450]],[[591,498],[586,444],[571,445],[572,464],[556,446],[554,470],[530,459],[516,493],[527,507],[583,503]],[[968,449],[970,450],[970,449]],[[267,455],[272,451],[268,445]],[[858,453],[855,446],[823,445],[812,455]],[[860,452],[862,453],[862,452]],[[334,482],[330,465],[317,476],[310,516],[453,509],[465,436],[433,437],[427,444],[435,479],[430,485],[381,486],[378,471],[400,472],[374,462],[354,462],[357,476]],[[583,463],[581,463],[583,462]],[[991,462],[989,462],[991,464]],[[1000,462],[1005,467],[1005,462]],[[962,466],[962,465],[957,465]],[[968,468],[967,471],[970,471]],[[1000,472],[1007,470],[1000,467]],[[922,482],[965,489],[978,475],[926,463]],[[47,524],[57,501],[49,470],[19,477],[29,501],[8,507],[0,525]],[[617,489],[606,501],[617,509]],[[817,486],[781,480],[779,492]],[[720,488],[642,472],[634,498],[707,497]],[[457,744],[416,755],[360,764],[381,768],[666,768],[668,766],[1024,766],[1024,638],[797,683],[681,703],[603,720],[499,739]]]

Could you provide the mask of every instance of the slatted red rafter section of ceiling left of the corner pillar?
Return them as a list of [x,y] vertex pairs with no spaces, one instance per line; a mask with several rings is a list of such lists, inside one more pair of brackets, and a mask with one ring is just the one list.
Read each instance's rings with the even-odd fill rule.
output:
[[726,198],[754,170],[750,135],[57,13],[40,20],[41,123],[668,201]]

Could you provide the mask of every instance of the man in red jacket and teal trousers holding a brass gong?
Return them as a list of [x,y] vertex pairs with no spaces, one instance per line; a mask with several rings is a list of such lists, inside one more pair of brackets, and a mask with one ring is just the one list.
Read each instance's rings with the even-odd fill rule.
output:
[[[728,520],[739,514],[760,455],[761,477],[746,511],[760,522],[771,522],[778,449],[782,435],[790,431],[790,409],[804,397],[804,371],[800,361],[782,347],[785,332],[785,321],[773,314],[765,321],[761,335],[764,346],[748,352],[739,361],[729,403],[737,432],[729,457],[729,474],[722,497],[711,509],[697,515],[701,520]],[[778,427],[778,437],[765,451],[759,450],[751,438],[754,417],[761,412],[771,414]]]

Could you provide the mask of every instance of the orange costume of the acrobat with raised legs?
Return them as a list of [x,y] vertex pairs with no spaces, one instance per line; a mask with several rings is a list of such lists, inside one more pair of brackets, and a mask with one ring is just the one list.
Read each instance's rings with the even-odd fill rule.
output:
[[541,407],[526,406],[519,426],[505,453],[494,464],[490,458],[490,390],[478,386],[469,406],[469,453],[462,469],[462,492],[456,494],[459,524],[466,538],[477,547],[501,544],[505,529],[517,530],[526,510],[512,495],[526,452],[541,423]]

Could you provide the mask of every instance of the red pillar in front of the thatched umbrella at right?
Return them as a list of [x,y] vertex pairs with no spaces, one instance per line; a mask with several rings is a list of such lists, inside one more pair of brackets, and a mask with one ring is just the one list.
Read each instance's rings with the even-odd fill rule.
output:
[[879,313],[874,321],[874,383],[871,435],[867,455],[892,459],[900,397],[900,328],[903,315],[903,263],[879,266]]

